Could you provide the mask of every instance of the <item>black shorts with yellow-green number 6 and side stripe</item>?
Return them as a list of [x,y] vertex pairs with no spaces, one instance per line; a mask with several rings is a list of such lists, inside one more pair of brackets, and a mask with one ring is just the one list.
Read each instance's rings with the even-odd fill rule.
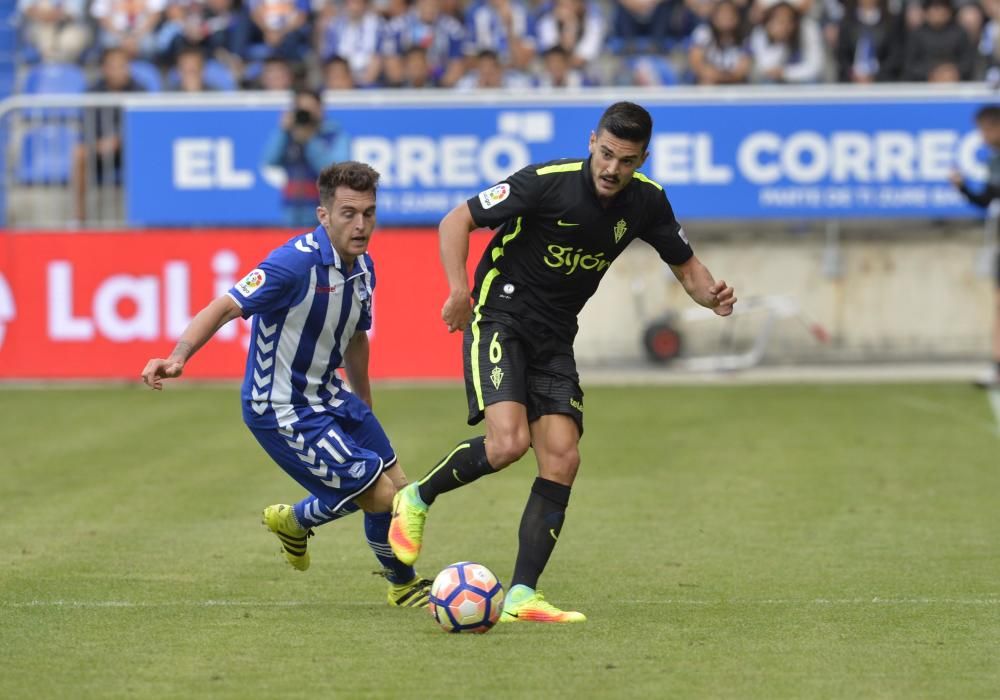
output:
[[529,423],[567,415],[583,435],[583,389],[572,341],[541,322],[483,309],[465,329],[463,348],[469,425],[483,420],[487,406],[516,401],[528,409]]

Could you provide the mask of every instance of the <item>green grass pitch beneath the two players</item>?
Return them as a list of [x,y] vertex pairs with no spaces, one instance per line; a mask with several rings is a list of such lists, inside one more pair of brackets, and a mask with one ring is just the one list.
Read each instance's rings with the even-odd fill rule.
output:
[[[458,386],[376,387],[411,478]],[[235,387],[0,389],[0,697],[1000,697],[1000,438],[953,385],[593,388],[542,588],[577,626],[447,635],[361,518],[287,567],[298,487]],[[443,497],[420,567],[506,580],[530,458]]]

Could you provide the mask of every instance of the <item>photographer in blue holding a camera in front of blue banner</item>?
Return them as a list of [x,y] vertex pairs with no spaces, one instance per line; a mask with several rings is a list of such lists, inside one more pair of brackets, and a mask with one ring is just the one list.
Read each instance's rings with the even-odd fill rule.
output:
[[319,206],[316,178],[326,166],[347,160],[348,147],[348,137],[340,126],[324,119],[320,96],[297,89],[292,108],[282,115],[280,128],[268,140],[263,159],[265,165],[284,173],[281,201],[285,223],[296,228],[315,225]]

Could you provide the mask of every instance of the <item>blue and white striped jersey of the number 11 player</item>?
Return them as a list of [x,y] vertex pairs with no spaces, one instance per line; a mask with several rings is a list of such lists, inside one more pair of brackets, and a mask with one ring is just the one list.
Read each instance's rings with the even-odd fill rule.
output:
[[243,378],[243,420],[277,428],[337,408],[336,370],[356,331],[371,328],[375,270],[365,254],[350,270],[319,226],[267,256],[228,294],[253,315]]

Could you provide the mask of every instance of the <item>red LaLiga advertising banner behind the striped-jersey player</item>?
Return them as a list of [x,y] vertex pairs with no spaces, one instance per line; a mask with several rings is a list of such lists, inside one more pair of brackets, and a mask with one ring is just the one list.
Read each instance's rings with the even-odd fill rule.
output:
[[[135,379],[191,317],[284,243],[287,230],[0,231],[0,378]],[[470,269],[489,241],[473,234]],[[457,378],[461,337],[431,229],[378,230],[373,378]],[[185,377],[243,374],[249,323],[220,329]]]

